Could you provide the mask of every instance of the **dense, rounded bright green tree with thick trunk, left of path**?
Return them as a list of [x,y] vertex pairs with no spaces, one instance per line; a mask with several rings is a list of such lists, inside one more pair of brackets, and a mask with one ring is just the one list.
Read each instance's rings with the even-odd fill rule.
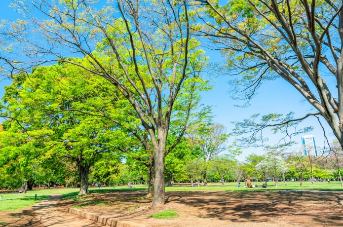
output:
[[[78,67],[62,64],[38,67],[28,76],[14,76],[12,84],[5,88],[4,115],[15,116],[21,127],[17,121],[8,123],[16,125],[17,133],[26,131],[22,134],[25,146],[32,144],[24,157],[42,164],[50,159],[74,162],[80,194],[88,193],[89,170],[102,153],[121,148],[122,138],[127,137],[112,121],[84,113],[90,104],[105,108],[109,102],[103,101],[105,97],[115,99],[115,94],[106,90],[106,83]],[[125,146],[129,145],[127,139]]]

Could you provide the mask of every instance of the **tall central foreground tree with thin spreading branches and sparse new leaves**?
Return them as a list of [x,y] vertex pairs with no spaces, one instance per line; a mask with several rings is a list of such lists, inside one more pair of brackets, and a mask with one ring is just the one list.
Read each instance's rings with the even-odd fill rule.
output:
[[[186,80],[201,72],[204,63],[203,51],[191,37],[187,1],[116,0],[103,8],[96,7],[95,0],[15,2],[27,18],[15,28],[39,34],[28,39],[12,33],[26,56],[38,56],[29,65],[51,61],[41,54],[55,56],[107,79],[131,104],[151,140],[152,203],[164,204],[165,156],[187,128],[184,123],[174,143],[167,146],[170,122],[178,112],[174,104],[183,95]],[[41,20],[32,10],[41,13]],[[83,55],[88,64],[64,57],[70,50]]]

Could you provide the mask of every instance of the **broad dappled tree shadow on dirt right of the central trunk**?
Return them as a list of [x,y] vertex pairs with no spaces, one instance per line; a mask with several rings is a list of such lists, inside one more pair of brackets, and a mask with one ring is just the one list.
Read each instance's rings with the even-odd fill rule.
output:
[[199,211],[200,218],[233,222],[268,222],[272,218],[307,216],[313,221],[343,225],[340,192],[321,191],[198,191],[168,192],[166,202],[186,204]]

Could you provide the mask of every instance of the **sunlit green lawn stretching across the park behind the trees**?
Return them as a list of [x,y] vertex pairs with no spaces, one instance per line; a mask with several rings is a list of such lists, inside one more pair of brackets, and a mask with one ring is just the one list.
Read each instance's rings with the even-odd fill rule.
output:
[[[300,187],[300,182],[287,182],[287,186],[284,186],[283,182],[279,183],[279,187],[275,187],[273,182],[268,182],[266,189],[261,188],[263,183],[253,183],[260,188],[244,188],[244,183],[241,188],[237,188],[237,183],[226,183],[222,186],[219,183],[210,183],[208,187],[194,187],[191,188],[189,184],[181,184],[174,187],[166,187],[166,191],[256,191],[256,190],[340,190],[343,191],[340,182],[317,182],[315,187],[312,187],[310,182],[303,182],[303,186]],[[116,190],[129,191],[129,190],[146,190],[147,185],[134,185],[133,188],[127,188],[127,186],[115,186],[115,187],[103,187],[101,189],[90,188],[91,193],[106,193]],[[81,196],[77,196],[78,189],[41,189],[28,191],[27,193],[9,193],[1,194],[0,200],[0,212],[5,210],[17,210],[23,207],[31,206],[39,200],[49,197],[51,194],[60,194],[64,199],[78,200]],[[37,200],[35,200],[35,194],[37,194]]]

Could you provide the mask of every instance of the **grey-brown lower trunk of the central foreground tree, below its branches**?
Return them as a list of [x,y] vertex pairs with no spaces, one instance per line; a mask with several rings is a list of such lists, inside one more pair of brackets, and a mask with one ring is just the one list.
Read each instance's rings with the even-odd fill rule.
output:
[[152,205],[164,205],[164,161],[165,161],[165,147],[166,147],[166,133],[165,135],[158,133],[158,147],[154,152],[154,194]]

